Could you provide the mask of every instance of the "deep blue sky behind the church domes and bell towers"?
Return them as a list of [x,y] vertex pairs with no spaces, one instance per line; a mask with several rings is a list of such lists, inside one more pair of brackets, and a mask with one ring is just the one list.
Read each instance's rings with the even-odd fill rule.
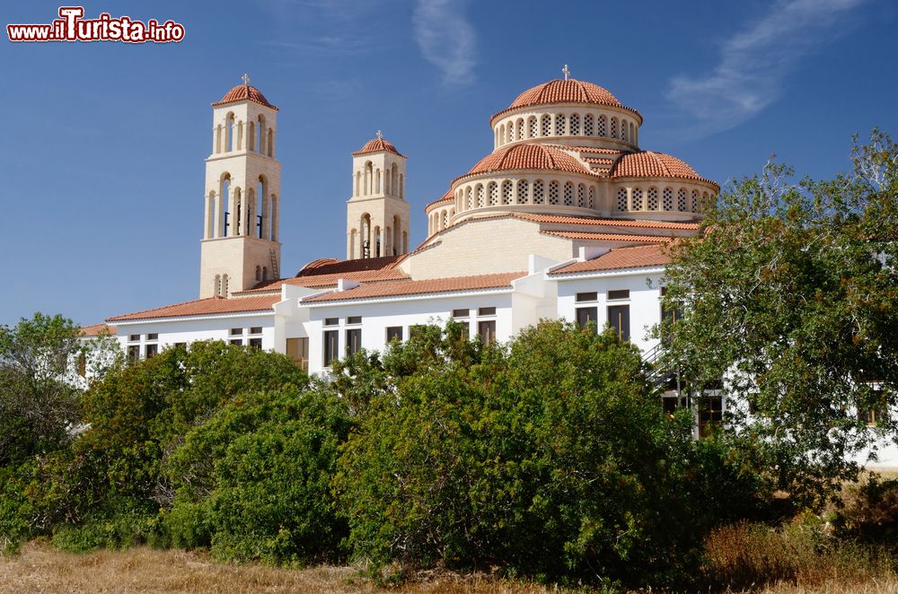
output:
[[[4,6],[3,24],[59,4]],[[560,76],[645,118],[642,148],[702,175],[771,153],[814,177],[850,136],[898,135],[892,0],[500,2],[259,0],[84,5],[172,19],[180,43],[0,41],[0,323],[89,324],[198,295],[209,103],[251,75],[278,115],[283,274],[345,255],[349,153],[382,129],[422,208],[492,149],[489,116]]]

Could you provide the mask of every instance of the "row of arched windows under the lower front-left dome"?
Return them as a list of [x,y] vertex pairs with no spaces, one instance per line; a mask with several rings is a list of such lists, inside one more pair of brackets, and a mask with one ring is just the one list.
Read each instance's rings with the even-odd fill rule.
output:
[[527,179],[519,179],[517,183],[506,179],[460,188],[455,192],[455,204],[460,212],[497,205],[548,204],[594,209],[595,197],[595,186],[583,183],[536,179],[531,184]]

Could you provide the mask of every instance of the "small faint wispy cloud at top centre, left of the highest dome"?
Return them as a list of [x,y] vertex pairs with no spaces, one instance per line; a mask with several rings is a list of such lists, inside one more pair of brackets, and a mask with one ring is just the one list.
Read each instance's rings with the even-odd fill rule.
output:
[[477,35],[464,17],[463,0],[418,0],[413,21],[421,54],[447,84],[473,80]]

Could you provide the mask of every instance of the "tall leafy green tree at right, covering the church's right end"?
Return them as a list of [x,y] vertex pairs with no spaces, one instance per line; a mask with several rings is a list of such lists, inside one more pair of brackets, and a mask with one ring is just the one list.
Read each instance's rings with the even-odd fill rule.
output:
[[832,180],[770,163],[736,182],[665,274],[668,363],[696,393],[725,379],[726,439],[799,502],[898,426],[865,423],[898,403],[898,144],[875,130],[852,160]]

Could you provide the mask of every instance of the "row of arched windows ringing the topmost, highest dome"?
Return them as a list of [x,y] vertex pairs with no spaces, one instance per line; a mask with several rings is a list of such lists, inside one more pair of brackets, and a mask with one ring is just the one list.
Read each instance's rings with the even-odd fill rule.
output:
[[627,118],[608,118],[604,114],[594,117],[587,113],[581,118],[578,113],[570,117],[546,113],[540,118],[509,119],[499,124],[494,133],[496,146],[543,136],[603,136],[637,144],[638,127]]

